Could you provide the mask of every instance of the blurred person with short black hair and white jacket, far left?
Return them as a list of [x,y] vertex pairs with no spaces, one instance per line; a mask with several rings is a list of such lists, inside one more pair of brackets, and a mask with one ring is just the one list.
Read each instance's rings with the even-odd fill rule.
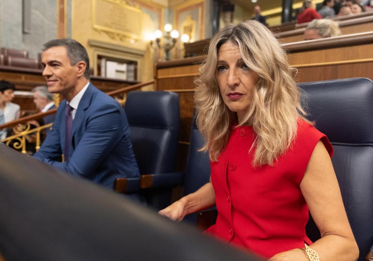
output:
[[[12,103],[15,87],[8,81],[0,81],[0,125],[18,119],[20,107]],[[0,130],[0,139],[5,139],[11,129]]]

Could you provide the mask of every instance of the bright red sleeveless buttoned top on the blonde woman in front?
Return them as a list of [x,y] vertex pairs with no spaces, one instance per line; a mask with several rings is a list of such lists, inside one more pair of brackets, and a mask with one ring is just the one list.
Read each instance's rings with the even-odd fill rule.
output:
[[323,133],[299,120],[291,148],[277,163],[253,168],[249,150],[255,135],[250,126],[233,128],[225,151],[210,163],[218,216],[206,232],[270,258],[312,243],[305,234],[308,206],[300,183],[317,142],[330,157],[333,148]]

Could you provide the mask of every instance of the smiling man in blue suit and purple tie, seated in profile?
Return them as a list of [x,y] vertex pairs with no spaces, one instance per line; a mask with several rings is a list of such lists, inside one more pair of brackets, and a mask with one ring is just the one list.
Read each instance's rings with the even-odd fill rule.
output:
[[[89,58],[75,40],[44,44],[48,91],[61,94],[52,130],[34,157],[110,189],[119,177],[139,177],[129,126],[117,101],[89,82]],[[63,154],[65,162],[56,159]]]

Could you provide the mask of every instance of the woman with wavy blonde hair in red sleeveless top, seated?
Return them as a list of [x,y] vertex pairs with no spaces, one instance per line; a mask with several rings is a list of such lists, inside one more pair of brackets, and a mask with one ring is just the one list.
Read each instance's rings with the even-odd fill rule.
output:
[[[213,36],[194,95],[210,182],[159,213],[182,220],[216,205],[207,232],[270,261],[357,260],[333,148],[305,119],[294,70],[257,21]],[[322,235],[314,243],[308,209]]]

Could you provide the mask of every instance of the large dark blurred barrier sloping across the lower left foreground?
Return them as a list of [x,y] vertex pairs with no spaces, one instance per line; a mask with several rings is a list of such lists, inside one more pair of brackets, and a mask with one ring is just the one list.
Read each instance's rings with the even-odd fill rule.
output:
[[256,260],[2,144],[0,253],[6,261]]

